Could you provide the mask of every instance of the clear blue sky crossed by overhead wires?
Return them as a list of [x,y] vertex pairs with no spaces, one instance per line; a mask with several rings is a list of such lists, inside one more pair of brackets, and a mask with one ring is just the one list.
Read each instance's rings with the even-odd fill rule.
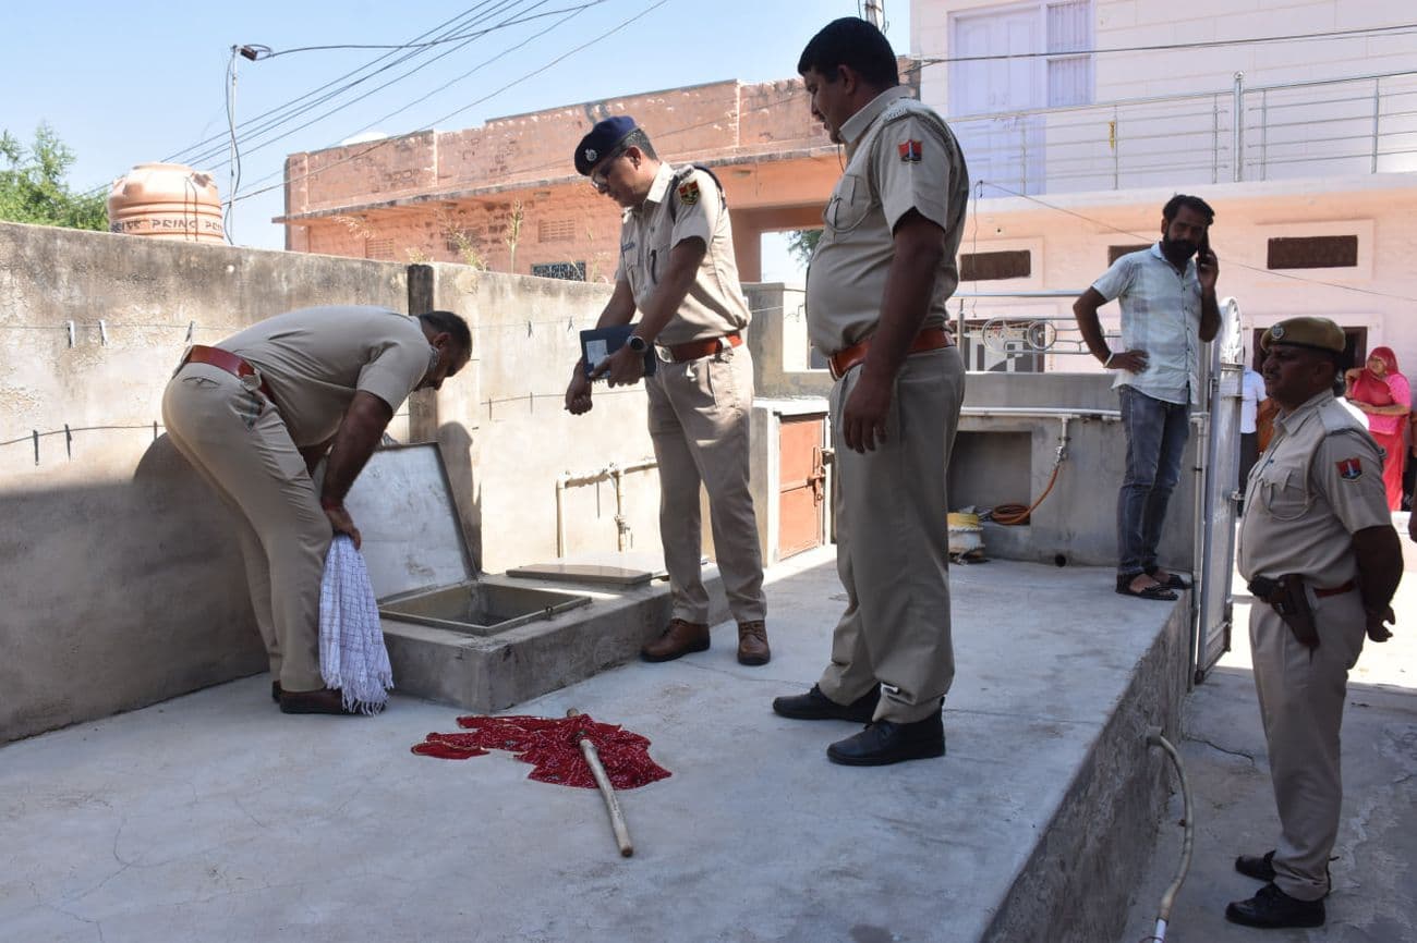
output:
[[[241,132],[239,126],[377,57],[388,57],[380,67],[390,65],[393,55],[387,50],[336,50],[289,52],[258,62],[238,59],[235,119],[238,139],[245,139],[239,195],[279,184],[285,154],[337,144],[370,127],[388,135],[424,127],[451,130],[500,115],[632,92],[714,79],[794,76],[796,58],[818,28],[835,17],[859,13],[856,0],[667,0],[619,33],[550,65],[659,0],[601,0],[567,20],[570,8],[587,1],[6,3],[0,129],[28,144],[35,126],[47,122],[78,156],[69,176],[75,188],[103,187],[133,164],[177,156],[183,163],[214,171],[225,198],[230,193],[225,86],[232,45],[264,44],[282,51],[329,44],[400,44],[459,16],[465,17],[461,23],[476,20],[461,27],[466,33],[548,14],[499,28],[462,48],[455,48],[458,42],[438,45],[264,135],[255,129]],[[908,13],[907,0],[887,0],[887,35],[901,54],[908,51]],[[533,38],[548,27],[548,33]],[[521,42],[526,45],[507,52]],[[408,78],[376,91],[444,52]],[[500,52],[507,54],[480,65]],[[479,65],[472,75],[455,81]],[[351,78],[368,71],[364,68]],[[529,72],[537,74],[496,91]],[[444,85],[448,88],[439,88]],[[473,103],[489,95],[487,101]],[[347,106],[296,130],[340,105]],[[207,139],[213,140],[200,149],[205,153],[193,153],[193,146]],[[235,242],[281,248],[282,229],[269,219],[282,210],[278,185],[238,200],[232,218]]]

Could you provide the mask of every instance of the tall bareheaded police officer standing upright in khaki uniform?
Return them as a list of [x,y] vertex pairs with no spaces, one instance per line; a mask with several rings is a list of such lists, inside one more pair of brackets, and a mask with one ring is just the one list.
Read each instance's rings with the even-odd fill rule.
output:
[[880,30],[826,25],[798,72],[812,115],[846,146],[808,270],[812,344],[830,355],[837,571],[847,605],[832,663],[772,709],[869,724],[836,763],[941,756],[954,680],[945,476],[965,374],[945,331],[959,283],[969,174],[954,135],[900,86]]

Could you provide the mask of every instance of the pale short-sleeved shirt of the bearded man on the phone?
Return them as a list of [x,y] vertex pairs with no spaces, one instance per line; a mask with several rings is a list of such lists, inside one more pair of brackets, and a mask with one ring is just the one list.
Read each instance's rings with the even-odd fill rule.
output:
[[1122,350],[1146,351],[1146,370],[1117,371],[1112,388],[1132,387],[1166,402],[1200,404],[1200,282],[1196,261],[1176,270],[1161,242],[1128,252],[1093,289],[1122,307]]

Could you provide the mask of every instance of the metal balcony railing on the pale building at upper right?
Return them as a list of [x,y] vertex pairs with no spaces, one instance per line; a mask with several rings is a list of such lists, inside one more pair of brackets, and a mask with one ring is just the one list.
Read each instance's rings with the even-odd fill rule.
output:
[[[1417,72],[951,119],[985,197],[1417,170]],[[989,190],[993,187],[993,191]]]

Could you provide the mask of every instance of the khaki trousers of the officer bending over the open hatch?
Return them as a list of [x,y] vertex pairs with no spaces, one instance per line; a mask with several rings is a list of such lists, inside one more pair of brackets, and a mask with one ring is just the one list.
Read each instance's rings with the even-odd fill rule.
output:
[[286,691],[320,678],[320,578],[333,537],[281,412],[239,379],[187,364],[163,394],[177,450],[235,511],[251,607]]

